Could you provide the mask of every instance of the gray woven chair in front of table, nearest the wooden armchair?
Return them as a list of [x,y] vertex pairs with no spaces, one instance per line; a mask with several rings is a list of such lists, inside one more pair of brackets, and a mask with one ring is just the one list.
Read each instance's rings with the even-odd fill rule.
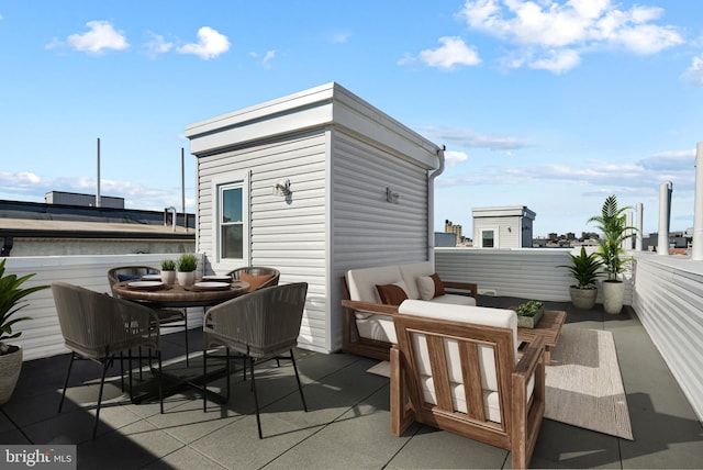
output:
[[[203,345],[203,377],[208,377],[208,349],[224,346],[226,349],[226,401],[230,401],[231,351],[245,356],[252,376],[252,390],[256,405],[256,424],[261,434],[259,402],[256,393],[254,365],[269,359],[290,359],[298,381],[298,390],[308,412],[305,396],[293,356],[298,345],[300,325],[305,306],[308,283],[299,282],[259,289],[246,295],[213,306],[205,314]],[[290,356],[281,355],[289,352]],[[203,382],[207,391],[208,384]],[[203,393],[203,411],[208,411],[207,393]]]

